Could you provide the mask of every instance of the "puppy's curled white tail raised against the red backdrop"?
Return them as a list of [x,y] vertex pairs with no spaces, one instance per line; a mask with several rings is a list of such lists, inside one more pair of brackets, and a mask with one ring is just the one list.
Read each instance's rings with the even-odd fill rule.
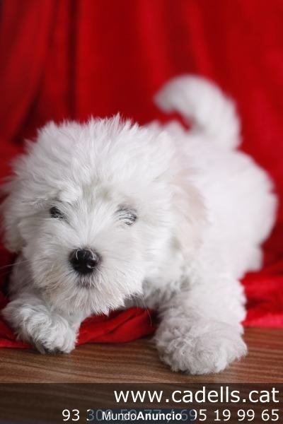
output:
[[154,98],[164,112],[179,112],[221,148],[241,143],[241,126],[233,101],[214,83],[197,76],[179,76],[169,81]]

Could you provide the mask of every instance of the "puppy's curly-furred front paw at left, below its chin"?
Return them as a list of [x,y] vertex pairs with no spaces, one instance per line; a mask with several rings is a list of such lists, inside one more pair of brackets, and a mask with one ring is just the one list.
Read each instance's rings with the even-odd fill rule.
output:
[[45,307],[8,303],[2,311],[17,337],[33,344],[40,353],[70,353],[76,345],[76,331],[67,319]]

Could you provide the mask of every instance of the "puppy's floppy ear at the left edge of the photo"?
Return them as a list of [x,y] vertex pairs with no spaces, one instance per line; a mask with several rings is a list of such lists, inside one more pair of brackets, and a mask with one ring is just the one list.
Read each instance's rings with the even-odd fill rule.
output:
[[21,220],[21,204],[17,201],[16,179],[1,186],[1,236],[4,245],[10,252],[21,252],[23,238],[19,230]]

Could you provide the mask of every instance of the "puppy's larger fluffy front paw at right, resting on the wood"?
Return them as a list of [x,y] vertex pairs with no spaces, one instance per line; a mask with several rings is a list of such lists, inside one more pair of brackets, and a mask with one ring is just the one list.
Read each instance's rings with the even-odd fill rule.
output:
[[221,322],[196,322],[190,327],[164,324],[161,323],[156,333],[156,346],[161,359],[173,371],[190,374],[221,372],[233,360],[246,355],[246,344],[238,326]]

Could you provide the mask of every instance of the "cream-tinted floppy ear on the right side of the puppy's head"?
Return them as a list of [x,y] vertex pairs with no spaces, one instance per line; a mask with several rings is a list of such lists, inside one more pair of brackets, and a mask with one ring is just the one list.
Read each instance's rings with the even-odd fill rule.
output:
[[178,245],[183,252],[192,252],[201,244],[207,226],[204,201],[185,172],[175,175],[171,184]]

